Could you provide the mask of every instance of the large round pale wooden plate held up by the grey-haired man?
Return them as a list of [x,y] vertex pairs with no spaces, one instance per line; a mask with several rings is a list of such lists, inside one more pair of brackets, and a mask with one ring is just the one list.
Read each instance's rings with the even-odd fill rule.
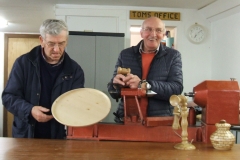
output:
[[103,120],[110,108],[110,99],[103,92],[79,88],[59,96],[52,105],[52,114],[63,125],[82,127]]

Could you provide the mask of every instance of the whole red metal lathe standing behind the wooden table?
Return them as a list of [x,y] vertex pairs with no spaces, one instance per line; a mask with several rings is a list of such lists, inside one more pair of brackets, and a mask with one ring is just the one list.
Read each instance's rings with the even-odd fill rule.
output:
[[[189,141],[210,143],[215,123],[221,119],[232,125],[239,124],[237,81],[204,81],[186,95],[194,97],[194,102],[202,107],[201,125],[188,126]],[[124,124],[100,122],[87,127],[67,127],[67,139],[181,142],[181,129],[174,131],[171,126],[173,117],[147,116],[146,106],[141,101],[147,98],[146,90],[122,88],[121,96]]]

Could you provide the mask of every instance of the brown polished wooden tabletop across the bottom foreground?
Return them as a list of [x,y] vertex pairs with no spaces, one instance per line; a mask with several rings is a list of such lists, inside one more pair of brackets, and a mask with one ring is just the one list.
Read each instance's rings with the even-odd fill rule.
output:
[[174,149],[174,143],[0,138],[4,160],[239,160],[240,144],[219,151],[194,143],[196,150]]

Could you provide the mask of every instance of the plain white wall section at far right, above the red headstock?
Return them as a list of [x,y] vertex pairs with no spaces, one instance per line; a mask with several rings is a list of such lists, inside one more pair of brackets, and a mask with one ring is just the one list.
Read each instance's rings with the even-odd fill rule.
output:
[[240,80],[240,13],[212,23],[212,78]]

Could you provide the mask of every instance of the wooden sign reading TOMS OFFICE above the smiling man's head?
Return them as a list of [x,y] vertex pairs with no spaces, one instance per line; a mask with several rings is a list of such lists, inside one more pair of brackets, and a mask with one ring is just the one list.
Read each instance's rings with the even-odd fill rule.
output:
[[130,19],[158,17],[161,20],[180,21],[180,12],[130,11]]

